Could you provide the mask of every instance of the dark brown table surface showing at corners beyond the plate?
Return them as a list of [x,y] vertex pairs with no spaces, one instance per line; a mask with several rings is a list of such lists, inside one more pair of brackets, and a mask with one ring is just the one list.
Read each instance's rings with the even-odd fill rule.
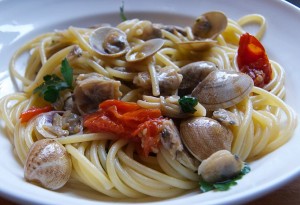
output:
[[[287,0],[300,7],[300,0]],[[1,205],[17,205],[9,199],[0,196]],[[246,205],[293,205],[300,204],[300,176],[283,187],[271,192],[259,199],[246,203]]]

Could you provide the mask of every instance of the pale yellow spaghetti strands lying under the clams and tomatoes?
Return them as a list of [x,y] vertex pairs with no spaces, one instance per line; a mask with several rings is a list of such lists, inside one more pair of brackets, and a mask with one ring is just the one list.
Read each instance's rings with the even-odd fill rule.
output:
[[[210,49],[193,52],[178,47],[181,42],[195,39],[191,27],[174,26],[172,30],[159,25],[163,46],[149,60],[138,63],[128,63],[124,55],[114,58],[99,55],[89,43],[94,28],[70,27],[27,42],[10,62],[12,78],[22,82],[23,91],[0,100],[1,118],[20,161],[25,163],[30,147],[43,136],[35,131],[34,120],[21,123],[19,117],[32,106],[49,104],[33,92],[43,83],[44,76],[61,76],[59,68],[65,58],[72,66],[75,77],[97,73],[120,82],[122,94],[117,98],[121,101],[137,102],[145,109],[159,109],[163,116],[169,118],[209,116],[211,112],[201,103],[194,107],[196,111],[193,114],[183,114],[178,103],[178,87],[171,91],[169,87],[164,89],[160,74],[164,75],[162,70],[165,69],[176,75],[181,67],[196,61],[209,61],[218,69],[239,71],[236,62],[238,41],[245,33],[243,26],[250,23],[259,25],[255,36],[261,39],[266,28],[265,19],[252,14],[237,22],[229,19],[226,29],[215,38],[216,43]],[[132,19],[116,28],[126,34],[130,47],[134,47],[148,40],[145,33],[152,25],[149,21]],[[26,52],[30,52],[30,57],[23,75],[15,65]],[[270,63],[271,81],[263,88],[254,86],[250,95],[227,108],[240,121],[239,126],[230,127],[234,136],[231,152],[242,160],[251,161],[274,151],[291,138],[296,127],[295,113],[283,101],[284,69],[275,61]],[[139,75],[145,77],[145,82],[148,81],[140,82],[144,78],[138,78]],[[166,81],[168,79],[164,83]],[[162,95],[164,93],[167,95]],[[199,176],[195,170],[174,160],[172,154],[161,145],[156,154],[145,157],[138,154],[131,140],[106,132],[89,133],[84,130],[83,133],[56,140],[65,146],[71,156],[72,177],[110,197],[173,197],[198,186]]]

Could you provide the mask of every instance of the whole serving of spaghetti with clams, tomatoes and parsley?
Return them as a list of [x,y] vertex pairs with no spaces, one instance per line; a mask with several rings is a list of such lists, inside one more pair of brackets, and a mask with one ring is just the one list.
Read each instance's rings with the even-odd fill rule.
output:
[[228,189],[297,125],[284,68],[260,42],[265,21],[211,11],[192,25],[131,19],[27,42],[10,62],[23,90],[0,99],[25,179],[56,190],[72,178],[113,198]]

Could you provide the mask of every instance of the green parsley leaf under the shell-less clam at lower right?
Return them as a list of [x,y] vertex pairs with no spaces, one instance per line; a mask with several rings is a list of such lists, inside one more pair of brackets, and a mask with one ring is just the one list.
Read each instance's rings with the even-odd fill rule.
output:
[[249,173],[251,171],[249,165],[245,164],[239,175],[232,179],[228,179],[223,182],[217,182],[217,183],[208,183],[204,181],[203,179],[200,180],[200,190],[202,192],[208,192],[211,190],[218,190],[218,191],[226,191],[230,189],[231,186],[237,185],[237,180],[241,179],[245,174]]

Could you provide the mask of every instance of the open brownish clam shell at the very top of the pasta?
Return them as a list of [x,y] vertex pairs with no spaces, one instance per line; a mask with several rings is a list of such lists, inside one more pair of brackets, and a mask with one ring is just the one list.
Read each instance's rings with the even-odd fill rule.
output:
[[211,11],[196,19],[192,31],[196,38],[215,39],[226,27],[226,15],[220,11]]

